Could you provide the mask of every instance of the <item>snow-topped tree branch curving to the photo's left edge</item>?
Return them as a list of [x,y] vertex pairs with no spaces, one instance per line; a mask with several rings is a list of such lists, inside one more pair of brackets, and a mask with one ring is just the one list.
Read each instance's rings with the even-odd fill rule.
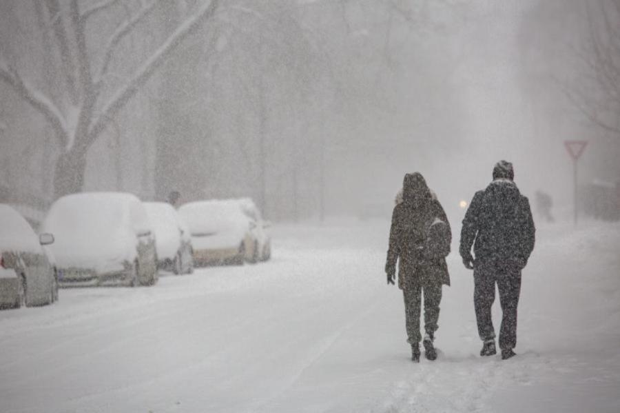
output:
[[68,142],[68,132],[64,118],[56,105],[45,97],[44,94],[32,88],[26,83],[13,68],[6,68],[0,63],[0,80],[10,85],[21,99],[30,103],[32,108],[43,114],[45,119],[52,125],[56,137],[59,139],[62,148],[65,148]]

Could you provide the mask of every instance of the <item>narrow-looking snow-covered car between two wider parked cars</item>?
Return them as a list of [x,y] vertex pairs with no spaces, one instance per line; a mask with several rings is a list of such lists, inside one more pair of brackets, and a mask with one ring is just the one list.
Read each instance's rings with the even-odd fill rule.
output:
[[144,208],[155,232],[158,268],[174,274],[193,272],[192,236],[185,221],[169,203],[145,202]]

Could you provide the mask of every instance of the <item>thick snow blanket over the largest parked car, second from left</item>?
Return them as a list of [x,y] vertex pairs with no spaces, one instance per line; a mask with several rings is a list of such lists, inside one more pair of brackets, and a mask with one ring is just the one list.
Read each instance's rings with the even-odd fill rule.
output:
[[136,234],[151,230],[141,201],[121,192],[85,192],[58,199],[43,221],[54,235],[50,250],[58,265],[94,268],[133,261]]

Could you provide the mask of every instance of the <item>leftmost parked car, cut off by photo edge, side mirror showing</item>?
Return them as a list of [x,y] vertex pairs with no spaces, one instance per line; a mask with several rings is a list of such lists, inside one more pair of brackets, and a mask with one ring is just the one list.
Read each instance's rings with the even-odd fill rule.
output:
[[4,204],[0,204],[0,228],[0,306],[53,303],[58,283],[41,245],[53,243],[54,237],[37,237],[23,216]]

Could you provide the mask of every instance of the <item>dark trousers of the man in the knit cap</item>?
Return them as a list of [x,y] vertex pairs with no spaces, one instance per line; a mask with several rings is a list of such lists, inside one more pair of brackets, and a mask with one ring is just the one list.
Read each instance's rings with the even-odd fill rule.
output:
[[482,341],[495,339],[491,307],[495,301],[495,283],[502,305],[502,326],[499,329],[499,348],[512,349],[517,345],[517,304],[521,292],[521,271],[499,268],[493,263],[477,262],[474,268],[474,304],[478,334]]

